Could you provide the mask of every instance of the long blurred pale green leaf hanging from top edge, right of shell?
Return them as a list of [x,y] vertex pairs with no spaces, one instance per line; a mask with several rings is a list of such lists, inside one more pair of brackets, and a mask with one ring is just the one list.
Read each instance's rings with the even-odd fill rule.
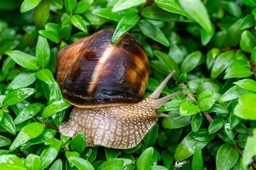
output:
[[179,0],[178,2],[181,5],[181,8],[188,14],[188,16],[198,22],[199,25],[204,30],[206,30],[207,33],[212,33],[214,31],[214,29],[212,28],[210,17],[202,1]]

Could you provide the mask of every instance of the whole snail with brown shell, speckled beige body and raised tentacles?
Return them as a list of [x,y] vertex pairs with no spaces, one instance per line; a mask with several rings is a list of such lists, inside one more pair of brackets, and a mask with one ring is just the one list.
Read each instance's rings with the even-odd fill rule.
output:
[[141,44],[126,33],[111,44],[113,29],[102,30],[63,48],[57,58],[57,82],[63,98],[74,109],[61,134],[74,137],[83,132],[88,147],[135,147],[157,122],[165,102],[183,90],[159,98],[173,71],[142,100],[149,63]]

